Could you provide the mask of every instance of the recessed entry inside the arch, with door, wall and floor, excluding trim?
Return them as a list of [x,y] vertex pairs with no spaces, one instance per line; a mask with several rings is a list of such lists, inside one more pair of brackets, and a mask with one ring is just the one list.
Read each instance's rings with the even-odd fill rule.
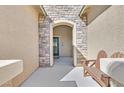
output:
[[72,65],[72,27],[59,25],[53,28],[53,57],[54,63]]

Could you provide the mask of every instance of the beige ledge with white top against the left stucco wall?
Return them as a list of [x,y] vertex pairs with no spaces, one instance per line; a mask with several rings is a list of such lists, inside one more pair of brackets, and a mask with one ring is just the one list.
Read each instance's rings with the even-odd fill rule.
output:
[[0,86],[23,72],[22,60],[0,60]]

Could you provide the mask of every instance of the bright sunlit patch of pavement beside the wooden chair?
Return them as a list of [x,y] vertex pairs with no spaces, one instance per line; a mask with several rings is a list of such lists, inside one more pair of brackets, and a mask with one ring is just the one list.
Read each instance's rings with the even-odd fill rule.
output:
[[90,76],[83,76],[83,67],[75,67],[61,81],[75,81],[78,87],[100,87]]

